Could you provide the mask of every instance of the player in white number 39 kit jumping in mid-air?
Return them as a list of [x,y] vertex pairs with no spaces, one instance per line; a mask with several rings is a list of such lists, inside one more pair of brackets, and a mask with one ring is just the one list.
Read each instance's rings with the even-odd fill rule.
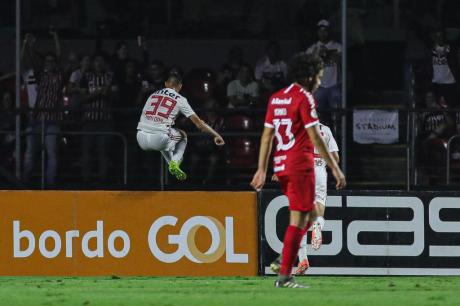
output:
[[137,125],[137,142],[142,150],[160,151],[168,162],[169,172],[178,180],[185,180],[187,175],[180,169],[180,164],[187,146],[187,134],[173,127],[179,114],[189,118],[200,131],[213,136],[216,145],[222,146],[225,142],[179,94],[182,79],[178,74],[170,73],[165,86],[148,97]]

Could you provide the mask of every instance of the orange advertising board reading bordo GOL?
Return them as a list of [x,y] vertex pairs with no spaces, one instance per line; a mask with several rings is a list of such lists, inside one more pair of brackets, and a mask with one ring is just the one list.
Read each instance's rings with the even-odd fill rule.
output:
[[0,192],[0,275],[257,274],[252,192]]

